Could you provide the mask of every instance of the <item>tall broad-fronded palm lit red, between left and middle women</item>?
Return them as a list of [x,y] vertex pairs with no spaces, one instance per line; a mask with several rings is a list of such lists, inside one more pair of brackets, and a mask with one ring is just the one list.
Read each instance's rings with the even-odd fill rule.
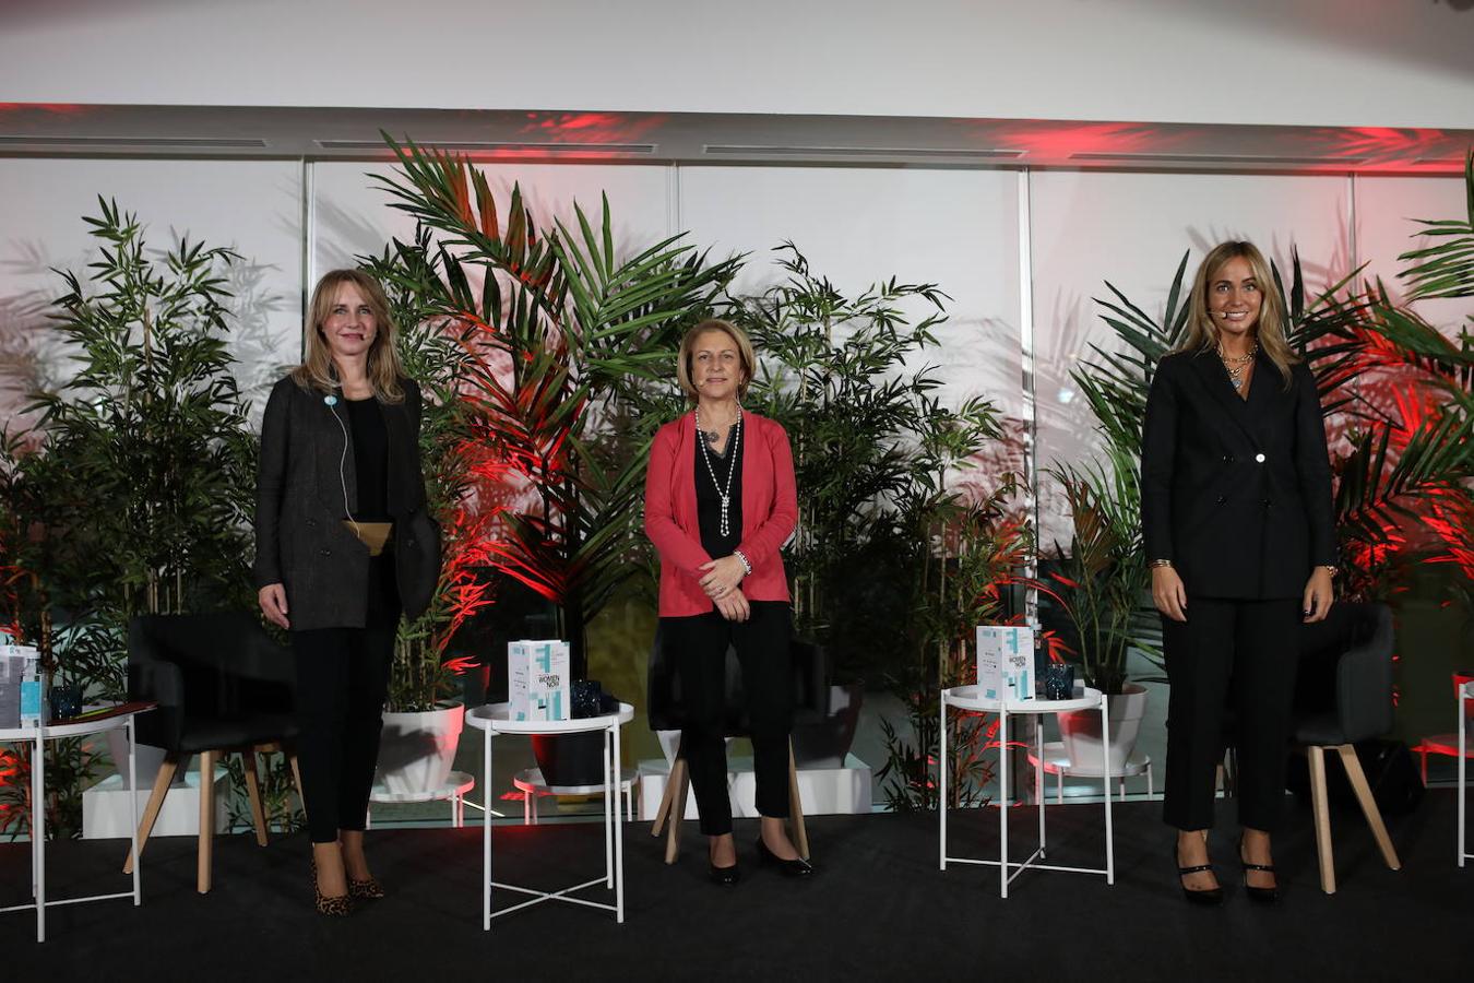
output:
[[432,307],[469,330],[467,439],[531,500],[497,508],[486,564],[557,606],[581,676],[588,622],[649,569],[640,497],[663,417],[631,408],[669,405],[677,339],[737,259],[708,264],[681,236],[624,258],[607,199],[597,225],[575,206],[572,230],[539,227],[516,186],[503,227],[464,158],[386,140],[398,171],[383,189],[438,239],[442,279],[455,284]]

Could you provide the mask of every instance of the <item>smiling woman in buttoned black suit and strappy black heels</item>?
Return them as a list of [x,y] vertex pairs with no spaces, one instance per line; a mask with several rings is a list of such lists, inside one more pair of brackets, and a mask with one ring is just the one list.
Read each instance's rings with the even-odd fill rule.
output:
[[1163,815],[1188,900],[1218,903],[1207,855],[1232,707],[1240,862],[1254,900],[1278,898],[1279,821],[1299,625],[1331,607],[1331,467],[1315,377],[1285,342],[1263,255],[1226,242],[1192,281],[1188,335],[1151,382],[1141,519],[1172,684]]

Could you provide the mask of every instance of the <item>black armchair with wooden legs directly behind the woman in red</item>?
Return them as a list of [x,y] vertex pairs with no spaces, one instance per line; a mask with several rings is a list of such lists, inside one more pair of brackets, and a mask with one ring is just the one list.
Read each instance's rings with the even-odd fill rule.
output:
[[[821,718],[828,710],[828,679],[825,676],[824,650],[809,643],[793,640],[789,646],[793,662],[793,718],[802,721]],[[727,735],[744,737],[749,722],[743,707],[741,665],[737,651],[727,648]],[[650,671],[646,687],[646,716],[653,731],[677,731],[685,725],[681,700],[681,679],[675,662],[665,650],[660,629],[656,628],[650,646]],[[650,836],[665,831],[665,862],[674,864],[681,847],[681,819],[685,816],[685,794],[690,775],[685,758],[678,750],[671,763],[671,777],[665,783],[665,794],[656,811]],[[793,846],[799,856],[809,859],[809,836],[803,825],[803,802],[799,797],[799,775],[793,759],[793,743],[789,741],[789,815],[793,824]]]

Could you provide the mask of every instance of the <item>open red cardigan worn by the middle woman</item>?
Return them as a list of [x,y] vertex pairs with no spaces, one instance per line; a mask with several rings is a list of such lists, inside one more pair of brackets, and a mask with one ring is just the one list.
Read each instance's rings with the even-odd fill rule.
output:
[[[660,618],[703,615],[715,607],[700,579],[713,557],[702,547],[696,519],[696,414],[666,423],[654,435],[646,472],[646,535],[660,554]],[[749,601],[789,600],[789,575],[778,550],[799,523],[793,451],[781,426],[741,414],[741,542],[752,573],[743,578]]]

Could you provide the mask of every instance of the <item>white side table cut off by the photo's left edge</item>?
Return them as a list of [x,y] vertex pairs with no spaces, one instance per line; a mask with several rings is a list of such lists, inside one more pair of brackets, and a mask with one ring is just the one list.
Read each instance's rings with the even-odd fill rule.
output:
[[40,727],[13,727],[0,730],[0,744],[27,743],[31,746],[31,900],[25,905],[0,908],[6,911],[35,909],[35,940],[46,942],[46,909],[57,905],[78,905],[87,900],[112,900],[113,898],[131,898],[134,906],[143,903],[140,893],[139,868],[133,865],[133,890],[116,892],[113,895],[90,895],[87,898],[46,899],[46,741],[56,741],[65,737],[84,737],[102,731],[125,730],[128,732],[128,788],[133,790],[133,816],[128,831],[133,839],[133,856],[139,853],[139,783],[137,783],[137,741],[134,740],[133,718],[144,710],[152,710],[152,703],[125,703],[121,706],[97,707],[69,721],[43,724]]

